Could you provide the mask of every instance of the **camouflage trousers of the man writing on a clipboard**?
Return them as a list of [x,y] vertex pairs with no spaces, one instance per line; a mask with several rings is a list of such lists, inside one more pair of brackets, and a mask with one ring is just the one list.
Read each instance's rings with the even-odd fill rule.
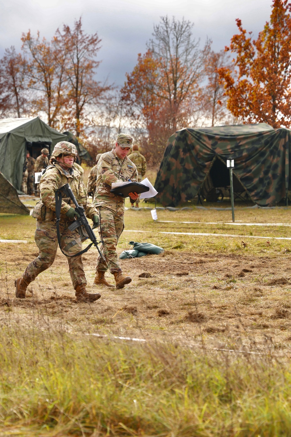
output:
[[98,257],[96,271],[106,271],[110,268],[110,273],[122,272],[118,264],[116,246],[124,228],[123,215],[124,211],[113,212],[103,207],[99,209],[99,235],[103,240],[103,256],[106,263]]

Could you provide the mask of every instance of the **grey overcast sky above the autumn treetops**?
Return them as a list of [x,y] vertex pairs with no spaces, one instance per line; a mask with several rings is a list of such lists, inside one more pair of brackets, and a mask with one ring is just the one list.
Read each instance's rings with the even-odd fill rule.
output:
[[11,45],[20,51],[21,34],[28,29],[50,39],[58,27],[72,26],[82,16],[84,30],[97,31],[102,39],[97,79],[108,76],[110,83],[123,85],[160,16],[192,21],[193,36],[201,38],[201,47],[208,36],[219,51],[236,33],[236,18],[257,36],[270,17],[271,4],[271,0],[0,0],[0,56]]

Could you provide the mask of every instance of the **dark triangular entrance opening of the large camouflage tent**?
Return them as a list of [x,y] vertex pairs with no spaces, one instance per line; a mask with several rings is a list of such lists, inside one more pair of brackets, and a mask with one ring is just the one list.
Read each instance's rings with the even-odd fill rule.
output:
[[[217,202],[219,198],[230,197],[229,169],[219,157],[215,157],[211,164],[208,175],[205,177],[200,190],[202,198],[208,202]],[[234,198],[248,200],[246,189],[240,180],[233,173],[233,192]]]

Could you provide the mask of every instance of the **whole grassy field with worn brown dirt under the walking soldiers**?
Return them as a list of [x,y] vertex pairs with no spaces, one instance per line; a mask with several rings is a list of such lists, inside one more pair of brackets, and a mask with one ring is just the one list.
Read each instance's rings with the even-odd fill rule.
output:
[[121,260],[133,281],[92,305],[76,303],[59,250],[15,298],[35,221],[1,216],[1,239],[27,240],[0,243],[1,436],[291,435],[290,208],[237,208],[235,224],[157,213],[127,210],[118,252],[133,240],[164,253]]

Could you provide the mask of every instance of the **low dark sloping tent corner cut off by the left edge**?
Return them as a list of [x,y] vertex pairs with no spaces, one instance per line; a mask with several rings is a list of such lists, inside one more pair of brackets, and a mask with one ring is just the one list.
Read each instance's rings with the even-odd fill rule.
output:
[[14,186],[0,173],[0,212],[7,214],[29,214],[29,209],[19,200]]

